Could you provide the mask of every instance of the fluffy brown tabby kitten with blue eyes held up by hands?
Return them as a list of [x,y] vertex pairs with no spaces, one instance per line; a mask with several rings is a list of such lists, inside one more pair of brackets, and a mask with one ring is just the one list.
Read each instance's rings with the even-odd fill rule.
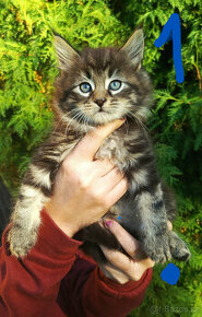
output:
[[[78,52],[57,34],[55,47],[61,70],[52,98],[55,127],[25,173],[8,236],[11,254],[23,257],[35,245],[40,211],[50,199],[57,171],[70,150],[87,131],[124,117],[124,125],[105,139],[95,155],[115,162],[130,184],[106,215],[117,220],[120,212],[119,222],[140,240],[142,257],[155,262],[171,257],[187,260],[188,247],[167,228],[167,220],[174,220],[175,201],[158,176],[143,124],[150,111],[152,85],[141,67],[142,28],[136,28],[121,48],[84,48]],[[84,240],[81,248],[97,262],[106,261],[98,244],[124,253],[116,237],[97,223],[81,230],[74,238]]]

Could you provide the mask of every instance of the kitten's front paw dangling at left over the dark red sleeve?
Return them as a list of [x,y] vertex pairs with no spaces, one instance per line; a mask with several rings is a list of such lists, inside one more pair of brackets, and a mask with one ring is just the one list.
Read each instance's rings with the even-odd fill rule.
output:
[[15,257],[25,257],[37,239],[36,232],[27,232],[22,227],[11,228],[8,234],[11,255]]

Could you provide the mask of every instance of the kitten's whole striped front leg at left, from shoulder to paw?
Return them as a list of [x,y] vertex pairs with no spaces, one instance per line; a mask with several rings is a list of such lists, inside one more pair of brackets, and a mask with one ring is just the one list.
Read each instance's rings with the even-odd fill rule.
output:
[[51,136],[34,154],[11,216],[8,240],[12,255],[27,255],[37,242],[40,211],[50,199],[62,161],[74,145],[75,142],[68,144],[63,137]]

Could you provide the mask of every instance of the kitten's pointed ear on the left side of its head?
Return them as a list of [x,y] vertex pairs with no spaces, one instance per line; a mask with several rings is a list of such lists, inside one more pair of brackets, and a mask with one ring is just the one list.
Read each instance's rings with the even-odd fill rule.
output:
[[68,70],[80,56],[79,52],[57,33],[54,33],[54,45],[59,60],[59,69]]

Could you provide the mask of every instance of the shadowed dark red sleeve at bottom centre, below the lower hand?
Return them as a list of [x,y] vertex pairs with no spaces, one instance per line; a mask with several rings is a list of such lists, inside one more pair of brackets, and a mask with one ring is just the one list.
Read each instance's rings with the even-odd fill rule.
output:
[[106,278],[93,260],[90,262],[79,255],[60,286],[59,301],[69,317],[126,317],[141,305],[152,280],[152,269],[138,282],[119,284]]

